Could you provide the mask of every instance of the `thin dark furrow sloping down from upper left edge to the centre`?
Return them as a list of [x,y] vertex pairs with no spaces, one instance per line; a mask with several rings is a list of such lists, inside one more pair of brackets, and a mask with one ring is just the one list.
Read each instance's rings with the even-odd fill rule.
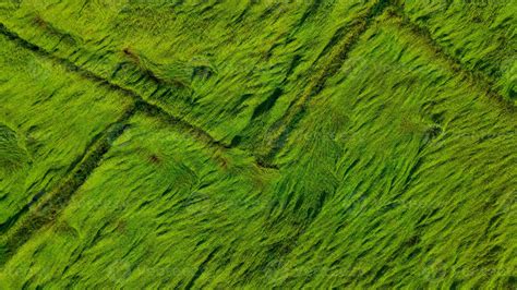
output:
[[71,62],[68,59],[60,58],[60,57],[57,57],[57,56],[52,55],[50,51],[48,51],[48,50],[46,50],[46,49],[44,49],[44,48],[41,48],[41,47],[39,47],[35,44],[29,43],[26,39],[23,39],[15,32],[12,32],[8,27],[5,27],[5,25],[2,24],[2,23],[0,23],[0,33],[5,35],[9,39],[11,39],[13,41],[16,41],[16,44],[19,44],[20,46],[25,47],[26,49],[29,49],[32,51],[35,51],[35,52],[37,52],[38,55],[40,55],[45,58],[51,59],[51,60],[56,61],[57,63],[59,63],[61,65],[64,65],[70,71],[73,71],[73,72],[76,72],[76,73],[81,74],[85,78],[92,80],[94,82],[98,82],[98,83],[109,87],[110,89],[124,93],[125,95],[130,96],[132,99],[134,99],[139,104],[139,108],[144,108],[145,107],[146,110],[158,112],[160,116],[164,116],[164,117],[170,119],[175,123],[182,123],[182,126],[188,129],[190,132],[194,132],[195,135],[202,136],[211,145],[214,145],[214,146],[217,146],[217,147],[229,147],[229,146],[223,144],[221,142],[215,140],[211,134],[208,134],[203,129],[187,122],[182,117],[173,116],[170,112],[168,112],[167,110],[165,110],[164,108],[161,108],[161,106],[158,106],[158,105],[155,105],[155,104],[152,104],[152,102],[145,100],[141,95],[139,95],[137,93],[135,93],[131,88],[123,87],[119,84],[115,84],[115,83],[104,78],[103,76],[100,76],[100,75],[98,75],[98,74],[96,74],[96,73],[94,73],[89,70],[85,70],[84,68]]

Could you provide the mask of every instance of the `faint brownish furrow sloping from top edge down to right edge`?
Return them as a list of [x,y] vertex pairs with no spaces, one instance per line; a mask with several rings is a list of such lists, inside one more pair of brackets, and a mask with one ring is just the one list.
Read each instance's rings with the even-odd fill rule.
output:
[[474,87],[480,88],[486,93],[486,96],[492,98],[502,108],[509,111],[515,110],[515,101],[503,97],[495,89],[495,82],[486,75],[484,72],[477,69],[468,69],[460,60],[449,55],[440,44],[437,44],[429,28],[418,25],[412,22],[399,7],[393,5],[387,10],[387,15],[397,24],[401,29],[408,31],[418,39],[422,39],[423,43],[431,48],[435,53],[436,58],[445,61],[449,69],[455,73],[460,74],[465,80],[471,83]]

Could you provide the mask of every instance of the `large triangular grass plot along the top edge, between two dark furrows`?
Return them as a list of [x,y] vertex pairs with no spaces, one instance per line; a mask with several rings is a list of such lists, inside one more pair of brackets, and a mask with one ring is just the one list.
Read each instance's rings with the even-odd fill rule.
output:
[[86,1],[77,13],[76,2],[23,1],[5,12],[7,26],[226,144],[245,129],[256,131],[261,119],[277,121],[311,82],[316,60],[376,4]]

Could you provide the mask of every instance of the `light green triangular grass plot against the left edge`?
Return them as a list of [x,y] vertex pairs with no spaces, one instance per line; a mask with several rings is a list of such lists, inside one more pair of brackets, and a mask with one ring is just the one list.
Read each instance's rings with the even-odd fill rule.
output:
[[[52,190],[128,98],[0,36],[0,225]],[[29,84],[29,85],[28,85]]]

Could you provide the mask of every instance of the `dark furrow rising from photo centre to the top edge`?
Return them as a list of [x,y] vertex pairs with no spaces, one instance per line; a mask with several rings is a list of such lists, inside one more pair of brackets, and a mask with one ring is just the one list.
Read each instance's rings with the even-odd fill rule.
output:
[[[389,1],[378,0],[362,15],[359,16],[349,27],[344,27],[336,32],[336,37],[330,39],[330,43],[336,41],[337,45],[334,47],[330,45],[328,50],[329,56],[326,57],[327,61],[320,67],[320,72],[312,83],[306,86],[306,89],[302,96],[291,104],[291,107],[285,114],[285,117],[278,122],[278,128],[273,136],[273,146],[266,156],[263,157],[264,162],[272,162],[272,159],[282,148],[289,133],[297,126],[302,117],[305,114],[308,102],[316,95],[318,95],[324,88],[328,77],[334,75],[345,60],[348,58],[348,53],[358,43],[360,36],[368,31],[370,24],[376,19],[387,7]],[[344,31],[348,31],[341,37]],[[341,37],[340,40],[337,38]],[[325,50],[322,52],[325,53]],[[317,68],[316,68],[317,70]]]

